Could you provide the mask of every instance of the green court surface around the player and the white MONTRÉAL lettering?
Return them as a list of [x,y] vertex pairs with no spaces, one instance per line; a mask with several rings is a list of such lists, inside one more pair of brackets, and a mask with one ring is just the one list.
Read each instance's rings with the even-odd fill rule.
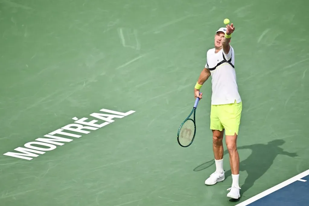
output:
[[[31,160],[1,155],[0,205],[236,205],[308,170],[308,6],[0,0],[1,154],[74,117],[135,111],[88,134],[71,132],[82,137],[66,136],[73,141]],[[176,140],[225,18],[236,28],[231,45],[243,101],[238,202],[226,198],[227,153],[226,180],[204,184],[215,170],[206,163],[213,159],[211,79],[202,87],[193,144]]]

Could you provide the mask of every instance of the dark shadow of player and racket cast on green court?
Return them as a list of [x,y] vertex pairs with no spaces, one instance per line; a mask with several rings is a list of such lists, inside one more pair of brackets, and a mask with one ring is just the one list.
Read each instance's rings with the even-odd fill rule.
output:
[[[241,161],[239,163],[239,170],[240,171],[246,171],[248,174],[248,177],[245,179],[245,182],[240,185],[240,195],[242,196],[250,187],[253,186],[255,181],[259,179],[265,172],[270,168],[270,166],[273,164],[273,161],[275,160],[276,156],[278,154],[287,155],[290,157],[297,157],[298,155],[296,153],[290,153],[287,151],[284,151],[279,146],[283,145],[285,143],[284,140],[273,140],[268,142],[267,144],[255,144],[255,145],[246,145],[238,147],[237,150],[241,149],[251,149],[252,153],[250,156]],[[228,151],[224,151],[224,155],[228,154]],[[225,158],[228,160],[228,158]],[[211,165],[214,165],[214,160],[211,160],[209,162],[206,162],[200,166],[197,166],[194,168],[194,171],[201,171],[204,170]],[[231,175],[231,170],[227,170],[225,172],[225,177],[228,177]],[[234,201],[239,201],[234,200]],[[232,201],[232,200],[231,200]]]

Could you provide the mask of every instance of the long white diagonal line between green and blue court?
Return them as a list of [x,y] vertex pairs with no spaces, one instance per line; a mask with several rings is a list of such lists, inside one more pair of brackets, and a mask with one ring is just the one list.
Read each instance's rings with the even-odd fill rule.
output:
[[235,206],[245,206],[245,205],[251,204],[252,202],[259,200],[262,197],[265,197],[266,195],[269,195],[270,193],[281,189],[282,187],[285,187],[285,186],[287,186],[291,183],[294,183],[295,181],[297,181],[297,180],[299,180],[299,179],[301,179],[301,178],[303,178],[307,175],[309,175],[309,170],[306,170],[306,171],[304,171],[304,172],[302,172],[302,173],[300,173],[300,174],[298,174],[298,175],[296,175],[296,176],[294,176],[294,177],[292,177],[292,178],[290,178],[290,179],[288,179],[288,180],[286,180],[286,181],[284,181],[284,182],[282,182],[282,183],[280,183],[280,184],[278,184],[278,185],[276,185],[272,188],[269,188],[268,190],[265,190],[264,192],[261,192],[260,194],[257,194],[255,196],[249,198],[248,200],[245,200],[245,201],[243,201],[243,202],[241,202],[241,203],[239,203]]

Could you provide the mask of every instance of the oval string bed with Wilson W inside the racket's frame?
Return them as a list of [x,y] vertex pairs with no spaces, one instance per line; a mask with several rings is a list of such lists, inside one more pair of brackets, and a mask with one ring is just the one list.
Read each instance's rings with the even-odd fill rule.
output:
[[194,131],[195,131],[194,122],[190,119],[185,121],[182,127],[180,128],[180,133],[179,133],[180,144],[184,146],[189,145],[193,140]]

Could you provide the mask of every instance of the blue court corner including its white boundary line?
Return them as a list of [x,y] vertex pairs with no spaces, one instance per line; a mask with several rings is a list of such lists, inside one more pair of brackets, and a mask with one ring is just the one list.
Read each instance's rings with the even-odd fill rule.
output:
[[309,170],[298,174],[236,206],[309,205]]

